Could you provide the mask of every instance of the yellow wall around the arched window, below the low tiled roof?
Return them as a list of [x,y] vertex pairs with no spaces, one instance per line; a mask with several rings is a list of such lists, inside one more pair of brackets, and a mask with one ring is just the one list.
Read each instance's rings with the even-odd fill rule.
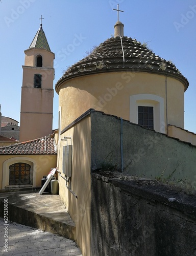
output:
[[9,166],[24,162],[31,165],[33,187],[41,187],[43,175],[48,175],[57,165],[56,155],[0,155],[0,189],[9,186]]

